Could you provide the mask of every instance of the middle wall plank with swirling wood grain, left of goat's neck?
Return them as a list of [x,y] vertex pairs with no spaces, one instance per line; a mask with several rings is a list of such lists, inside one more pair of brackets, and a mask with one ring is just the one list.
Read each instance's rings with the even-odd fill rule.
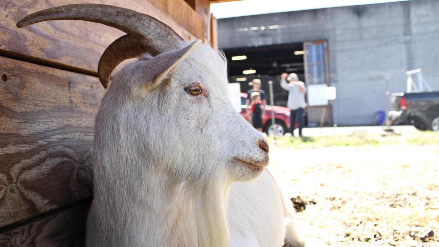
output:
[[0,75],[1,227],[91,196],[104,89],[92,76],[5,57]]

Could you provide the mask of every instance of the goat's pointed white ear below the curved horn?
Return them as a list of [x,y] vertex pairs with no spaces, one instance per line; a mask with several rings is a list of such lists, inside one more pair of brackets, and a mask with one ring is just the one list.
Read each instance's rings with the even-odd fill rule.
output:
[[183,59],[201,44],[201,40],[195,40],[187,47],[168,51],[146,61],[143,67],[141,81],[143,86],[153,89],[158,86],[163,79],[179,64]]

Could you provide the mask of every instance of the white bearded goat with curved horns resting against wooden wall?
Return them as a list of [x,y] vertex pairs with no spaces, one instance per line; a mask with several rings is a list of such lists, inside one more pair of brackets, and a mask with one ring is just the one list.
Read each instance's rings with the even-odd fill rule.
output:
[[265,138],[230,103],[223,56],[113,6],[55,7],[17,26],[55,19],[128,33],[101,58],[104,87],[120,61],[155,55],[115,73],[97,113],[87,246],[280,247],[285,233],[292,246],[301,244],[264,168]]

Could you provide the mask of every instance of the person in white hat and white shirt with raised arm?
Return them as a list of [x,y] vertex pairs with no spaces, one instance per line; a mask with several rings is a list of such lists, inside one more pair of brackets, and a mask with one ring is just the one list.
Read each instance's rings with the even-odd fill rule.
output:
[[[288,83],[287,83],[288,81]],[[297,74],[282,73],[281,75],[281,87],[288,91],[288,103],[287,107],[290,108],[290,132],[294,136],[294,122],[297,119],[299,124],[299,136],[302,136],[302,128],[304,125],[304,108],[306,86],[305,83],[299,81]]]

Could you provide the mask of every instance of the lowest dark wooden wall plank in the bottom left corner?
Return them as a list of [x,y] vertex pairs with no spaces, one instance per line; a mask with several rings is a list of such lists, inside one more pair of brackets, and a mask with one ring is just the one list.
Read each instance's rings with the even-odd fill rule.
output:
[[90,200],[0,230],[0,247],[83,247]]

